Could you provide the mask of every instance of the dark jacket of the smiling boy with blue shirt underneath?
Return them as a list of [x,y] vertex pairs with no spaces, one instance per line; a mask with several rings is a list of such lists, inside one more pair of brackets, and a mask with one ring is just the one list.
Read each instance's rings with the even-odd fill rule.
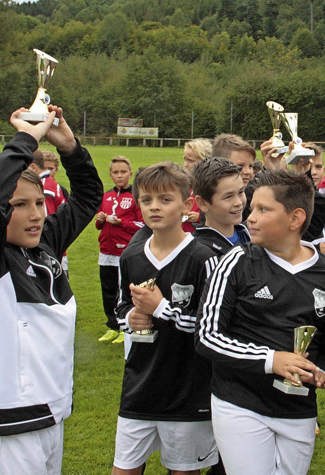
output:
[[[194,238],[210,247],[218,256],[218,259],[221,259],[229,249],[234,247],[234,244],[216,229],[196,223],[193,223],[193,226],[195,228],[193,232]],[[238,234],[238,244],[250,241],[249,231],[244,224],[240,223],[234,228]]]

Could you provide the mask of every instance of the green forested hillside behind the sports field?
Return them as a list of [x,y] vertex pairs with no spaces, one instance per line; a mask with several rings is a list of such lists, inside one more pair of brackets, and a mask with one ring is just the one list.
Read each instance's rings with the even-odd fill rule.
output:
[[[0,0],[0,133],[37,89],[34,53],[59,64],[48,91],[74,131],[112,135],[141,117],[161,137],[267,138],[265,102],[325,140],[325,1]],[[283,131],[284,133],[284,131]],[[284,133],[285,138],[288,138]]]

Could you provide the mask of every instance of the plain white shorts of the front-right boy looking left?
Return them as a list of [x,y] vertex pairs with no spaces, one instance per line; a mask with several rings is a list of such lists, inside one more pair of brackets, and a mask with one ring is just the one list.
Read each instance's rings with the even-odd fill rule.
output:
[[306,475],[316,418],[261,416],[214,395],[211,409],[214,435],[229,475]]

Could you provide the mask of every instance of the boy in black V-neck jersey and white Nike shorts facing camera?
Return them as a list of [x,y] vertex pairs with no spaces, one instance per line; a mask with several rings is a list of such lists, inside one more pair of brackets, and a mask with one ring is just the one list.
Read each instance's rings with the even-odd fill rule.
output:
[[[116,314],[127,332],[151,327],[153,343],[133,341],[116,433],[113,475],[138,475],[155,450],[173,473],[199,475],[218,461],[210,421],[210,365],[194,351],[194,325],[214,253],[181,228],[192,207],[191,176],[171,162],[137,175],[139,203],[153,234],[120,260]],[[137,287],[156,278],[153,291]],[[208,363],[208,364],[207,364]]]

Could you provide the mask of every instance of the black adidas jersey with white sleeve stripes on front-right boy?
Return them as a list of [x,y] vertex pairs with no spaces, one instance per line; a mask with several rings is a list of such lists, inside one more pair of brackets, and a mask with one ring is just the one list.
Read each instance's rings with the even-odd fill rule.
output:
[[218,398],[269,417],[316,416],[314,386],[308,397],[284,394],[273,387],[281,377],[272,373],[274,351],[293,352],[294,328],[304,325],[318,329],[309,359],[325,369],[325,257],[314,251],[293,266],[246,243],[230,250],[210,276],[198,311],[196,347],[212,360],[212,392]]

